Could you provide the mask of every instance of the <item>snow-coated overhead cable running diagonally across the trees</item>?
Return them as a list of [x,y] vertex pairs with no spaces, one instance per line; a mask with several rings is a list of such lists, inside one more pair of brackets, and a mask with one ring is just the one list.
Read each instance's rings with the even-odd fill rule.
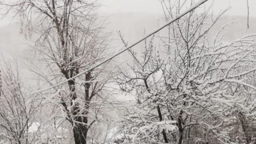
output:
[[89,69],[87,69],[87,70],[84,70],[83,72],[77,74],[76,76],[73,76],[72,78],[66,79],[66,80],[62,81],[61,83],[59,83],[59,84],[53,85],[53,86],[51,86],[51,87],[48,87],[48,88],[46,88],[46,89],[43,89],[43,90],[40,90],[40,91],[37,91],[37,92],[34,92],[34,93],[44,92],[44,91],[46,91],[46,90],[52,89],[52,88],[54,88],[54,87],[56,87],[56,86],[59,86],[60,84],[64,84],[64,83],[68,82],[69,80],[72,80],[72,79],[74,79],[74,78],[76,78],[76,77],[78,77],[78,76],[81,76],[82,74],[84,74],[84,73],[86,73],[86,72],[92,70],[93,68],[99,67],[100,65],[104,64],[105,62],[107,62],[107,61],[109,61],[109,60],[112,60],[114,57],[118,56],[119,54],[121,54],[121,53],[127,51],[128,49],[132,48],[133,46],[139,44],[140,42],[142,42],[143,40],[145,40],[145,39],[148,38],[149,36],[154,35],[154,34],[157,33],[158,31],[160,31],[161,29],[163,29],[163,28],[165,28],[166,26],[170,25],[172,22],[174,22],[174,21],[180,19],[180,17],[182,17],[182,16],[184,16],[185,14],[187,14],[188,12],[191,12],[192,10],[196,9],[198,6],[200,6],[201,4],[204,4],[206,1],[208,1],[208,0],[200,0],[199,2],[197,2],[196,4],[194,4],[193,6],[191,6],[191,7],[190,7],[188,10],[186,10],[185,12],[182,12],[181,14],[176,15],[175,18],[173,18],[173,19],[171,19],[170,21],[168,21],[167,23],[165,23],[162,27],[160,27],[160,28],[156,29],[155,31],[149,33],[148,35],[146,35],[145,37],[143,37],[143,38],[140,39],[139,41],[137,41],[137,42],[135,42],[135,43],[133,43],[133,44],[127,46],[124,50],[122,50],[122,51],[120,51],[120,52],[117,52],[117,53],[116,53],[115,55],[113,55],[112,57],[110,57],[110,58],[108,58],[108,59],[106,59],[106,60],[100,62],[99,64],[95,65],[94,67],[89,68]]

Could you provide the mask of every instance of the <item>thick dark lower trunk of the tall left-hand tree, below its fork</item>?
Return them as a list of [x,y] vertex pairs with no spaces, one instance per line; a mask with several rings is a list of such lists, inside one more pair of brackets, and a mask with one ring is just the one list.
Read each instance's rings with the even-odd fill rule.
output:
[[86,125],[74,124],[73,134],[75,144],[86,144],[88,128]]

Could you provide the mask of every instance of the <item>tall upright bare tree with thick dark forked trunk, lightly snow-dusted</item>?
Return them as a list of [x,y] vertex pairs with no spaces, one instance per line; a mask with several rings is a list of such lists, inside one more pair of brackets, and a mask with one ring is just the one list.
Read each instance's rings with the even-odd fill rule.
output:
[[73,78],[107,55],[108,34],[96,14],[99,5],[89,0],[16,0],[3,1],[1,6],[20,18],[26,36],[36,37],[38,60],[49,70],[40,74],[44,81],[52,86],[68,80],[55,87],[55,100],[73,126],[75,143],[85,144],[89,128],[100,117],[101,101],[109,97],[104,89],[111,76],[108,62]]

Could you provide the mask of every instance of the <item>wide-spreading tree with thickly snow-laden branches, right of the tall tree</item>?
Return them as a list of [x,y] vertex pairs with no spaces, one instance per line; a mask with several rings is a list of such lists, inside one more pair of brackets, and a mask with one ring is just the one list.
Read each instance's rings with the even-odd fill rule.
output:
[[[168,21],[187,3],[162,5]],[[133,64],[116,77],[137,98],[121,120],[125,143],[254,142],[256,35],[223,41],[225,27],[211,31],[223,12],[210,10],[145,40],[141,55],[129,51]]]

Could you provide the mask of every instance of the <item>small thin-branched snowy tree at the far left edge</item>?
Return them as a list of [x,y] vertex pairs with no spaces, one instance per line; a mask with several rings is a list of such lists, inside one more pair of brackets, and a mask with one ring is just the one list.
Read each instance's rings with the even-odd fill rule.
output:
[[18,68],[6,64],[1,69],[0,138],[3,143],[35,143],[39,127],[33,132],[31,129],[42,105],[42,95],[31,93],[20,79]]

